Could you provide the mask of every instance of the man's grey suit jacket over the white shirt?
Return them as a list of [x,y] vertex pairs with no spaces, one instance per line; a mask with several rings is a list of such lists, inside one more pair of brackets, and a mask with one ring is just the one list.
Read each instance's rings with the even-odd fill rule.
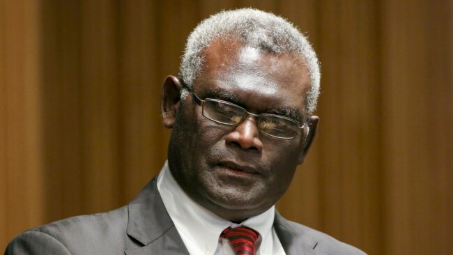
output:
[[[154,178],[128,206],[70,217],[18,235],[5,254],[188,254]],[[364,254],[307,226],[275,214],[274,228],[286,254]]]

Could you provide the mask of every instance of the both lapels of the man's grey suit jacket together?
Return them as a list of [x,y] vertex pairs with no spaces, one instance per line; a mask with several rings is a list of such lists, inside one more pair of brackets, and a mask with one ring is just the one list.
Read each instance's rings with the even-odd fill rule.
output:
[[[137,198],[129,203],[127,234],[142,247],[128,247],[127,255],[189,254],[160,198],[157,178],[154,178]],[[287,255],[318,254],[316,240],[305,232],[295,231],[291,224],[275,211],[274,228]]]

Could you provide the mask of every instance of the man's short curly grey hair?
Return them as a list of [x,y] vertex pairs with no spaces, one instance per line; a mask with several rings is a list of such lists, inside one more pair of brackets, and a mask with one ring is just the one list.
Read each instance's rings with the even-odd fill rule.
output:
[[243,8],[210,16],[190,33],[181,60],[179,76],[192,88],[201,72],[204,50],[215,39],[238,39],[245,45],[275,54],[298,54],[307,66],[310,87],[306,94],[306,111],[316,109],[321,79],[316,53],[307,38],[282,17],[261,10]]

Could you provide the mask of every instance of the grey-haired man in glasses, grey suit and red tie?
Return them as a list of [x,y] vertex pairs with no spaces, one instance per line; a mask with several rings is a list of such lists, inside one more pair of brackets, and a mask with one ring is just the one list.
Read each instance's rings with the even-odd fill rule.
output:
[[158,177],[128,206],[31,229],[6,254],[363,254],[275,210],[316,133],[319,77],[282,18],[210,17],[164,82],[172,132]]

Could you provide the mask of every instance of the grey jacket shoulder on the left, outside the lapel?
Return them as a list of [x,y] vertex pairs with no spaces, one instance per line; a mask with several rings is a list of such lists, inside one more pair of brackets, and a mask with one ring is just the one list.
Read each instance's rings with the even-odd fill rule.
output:
[[[93,247],[96,250],[109,249],[114,246],[122,248],[125,243],[123,240],[125,240],[127,225],[127,206],[110,212],[69,217],[24,231],[8,245],[9,251],[29,247],[31,253],[10,252],[6,254],[36,254],[36,251],[39,250],[54,254],[50,251],[57,248],[59,252],[55,254],[83,254],[80,251],[84,249],[92,251]],[[100,242],[111,243],[111,245],[100,247]],[[95,254],[95,252],[85,254]]]

